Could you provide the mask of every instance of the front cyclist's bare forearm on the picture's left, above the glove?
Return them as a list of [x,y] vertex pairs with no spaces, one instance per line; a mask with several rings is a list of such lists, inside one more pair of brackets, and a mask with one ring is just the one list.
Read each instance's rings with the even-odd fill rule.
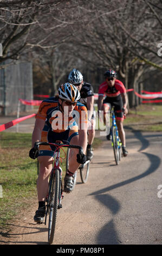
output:
[[32,148],[34,147],[34,143],[37,141],[41,141],[41,133],[45,124],[45,120],[36,119],[35,126],[32,134]]

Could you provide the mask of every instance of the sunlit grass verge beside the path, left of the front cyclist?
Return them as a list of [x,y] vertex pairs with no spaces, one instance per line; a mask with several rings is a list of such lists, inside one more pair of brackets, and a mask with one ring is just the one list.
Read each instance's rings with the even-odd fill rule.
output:
[[[100,139],[95,138],[94,148],[100,144]],[[31,133],[0,133],[0,233],[37,197],[37,161],[28,157],[30,148]],[[61,150],[61,157],[64,156]],[[63,171],[65,164],[66,160],[62,160]]]

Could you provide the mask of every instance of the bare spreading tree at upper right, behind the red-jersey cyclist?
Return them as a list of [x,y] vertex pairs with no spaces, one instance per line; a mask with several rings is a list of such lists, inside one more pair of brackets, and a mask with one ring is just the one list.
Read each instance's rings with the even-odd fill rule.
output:
[[[142,75],[150,70],[148,60],[159,65],[155,54],[155,40],[160,39],[155,30],[157,20],[144,1],[104,1],[99,4],[89,12],[89,22],[81,28],[85,33],[78,34],[76,42],[90,52],[86,56],[87,62],[92,63],[93,56],[94,65],[115,69],[126,88],[139,92]],[[80,52],[80,58],[83,58]],[[130,93],[130,107],[137,104],[137,97]]]

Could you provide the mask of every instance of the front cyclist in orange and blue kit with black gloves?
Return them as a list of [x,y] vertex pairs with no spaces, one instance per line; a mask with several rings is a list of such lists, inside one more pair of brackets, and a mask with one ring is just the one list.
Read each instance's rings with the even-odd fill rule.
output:
[[[32,159],[38,157],[40,171],[37,179],[38,210],[34,221],[44,220],[46,213],[45,199],[48,193],[48,177],[52,169],[55,147],[40,145],[40,150],[34,148],[37,141],[51,142],[68,141],[87,147],[87,108],[80,102],[80,92],[73,84],[65,83],[59,87],[58,95],[41,102],[36,114],[35,127],[32,135],[33,148],[29,151]],[[72,149],[71,149],[72,150]],[[64,192],[73,190],[74,173],[80,163],[86,162],[86,155],[79,155],[78,149],[73,149],[69,159],[69,169],[64,177]]]

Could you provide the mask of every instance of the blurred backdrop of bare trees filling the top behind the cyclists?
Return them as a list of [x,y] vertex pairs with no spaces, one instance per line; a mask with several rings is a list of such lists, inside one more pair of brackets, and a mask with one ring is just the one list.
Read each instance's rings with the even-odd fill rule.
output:
[[108,68],[126,89],[159,92],[161,13],[161,0],[0,0],[1,69],[33,62],[34,94],[54,95],[73,68],[95,93]]

